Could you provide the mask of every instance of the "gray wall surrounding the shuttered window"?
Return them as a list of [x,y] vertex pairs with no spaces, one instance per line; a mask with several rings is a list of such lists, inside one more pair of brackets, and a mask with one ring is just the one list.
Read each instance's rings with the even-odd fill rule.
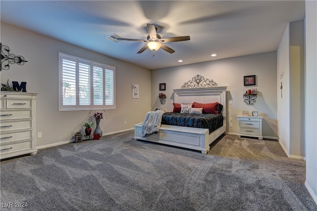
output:
[[[148,69],[3,22],[1,42],[28,61],[23,66],[11,65],[9,70],[2,70],[0,76],[2,84],[7,79],[10,84],[27,82],[27,92],[38,93],[36,132],[42,132],[42,138],[37,138],[37,147],[69,141],[76,131],[83,131],[83,123],[94,113],[58,111],[58,52],[116,67],[116,109],[106,110],[107,118],[101,121],[104,134],[133,129],[151,110],[151,71]],[[139,84],[139,99],[132,99],[132,84]]]

